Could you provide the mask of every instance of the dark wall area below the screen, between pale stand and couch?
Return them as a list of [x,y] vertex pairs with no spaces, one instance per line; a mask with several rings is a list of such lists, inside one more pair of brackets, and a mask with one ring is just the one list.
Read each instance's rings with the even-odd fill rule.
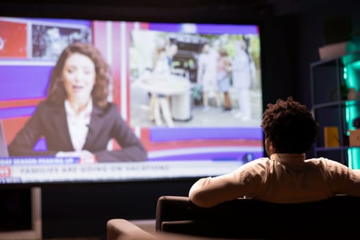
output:
[[158,197],[186,196],[191,184],[193,180],[42,187],[43,238],[104,238],[108,219],[154,219]]

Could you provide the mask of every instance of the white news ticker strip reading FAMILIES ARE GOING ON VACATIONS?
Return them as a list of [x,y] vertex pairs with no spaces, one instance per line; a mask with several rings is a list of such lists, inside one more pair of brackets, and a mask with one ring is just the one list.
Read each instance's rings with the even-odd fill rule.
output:
[[[76,158],[56,158],[55,163],[0,165],[0,184],[40,182],[95,182],[217,176],[237,169],[241,161],[171,160],[123,163],[73,164]],[[4,160],[4,159],[0,159]],[[14,160],[14,159],[13,159]],[[32,160],[40,160],[34,158]],[[60,163],[63,160],[64,163]],[[77,159],[78,160],[78,159]]]

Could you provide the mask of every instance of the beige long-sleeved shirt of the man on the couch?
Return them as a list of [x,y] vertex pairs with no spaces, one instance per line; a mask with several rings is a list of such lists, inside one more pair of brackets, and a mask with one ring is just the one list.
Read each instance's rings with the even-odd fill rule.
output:
[[324,200],[335,194],[360,197],[360,170],[334,160],[305,154],[272,154],[242,165],[232,173],[197,180],[189,198],[211,207],[239,197],[294,203]]

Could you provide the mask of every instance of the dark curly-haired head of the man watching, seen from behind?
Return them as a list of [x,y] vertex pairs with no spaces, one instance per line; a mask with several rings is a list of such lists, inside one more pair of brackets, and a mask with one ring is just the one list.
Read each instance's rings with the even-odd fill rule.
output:
[[319,125],[307,106],[287,97],[267,104],[261,128],[276,153],[302,154],[313,147]]

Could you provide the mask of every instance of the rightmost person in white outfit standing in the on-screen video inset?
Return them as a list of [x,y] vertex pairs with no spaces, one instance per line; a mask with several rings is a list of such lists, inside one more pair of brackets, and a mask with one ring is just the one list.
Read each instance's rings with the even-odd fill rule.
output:
[[250,68],[250,58],[246,52],[246,43],[238,40],[235,43],[236,54],[232,60],[232,85],[237,90],[237,100],[239,112],[235,117],[241,118],[241,121],[250,121],[252,119],[252,109],[250,100],[250,86],[252,74]]

